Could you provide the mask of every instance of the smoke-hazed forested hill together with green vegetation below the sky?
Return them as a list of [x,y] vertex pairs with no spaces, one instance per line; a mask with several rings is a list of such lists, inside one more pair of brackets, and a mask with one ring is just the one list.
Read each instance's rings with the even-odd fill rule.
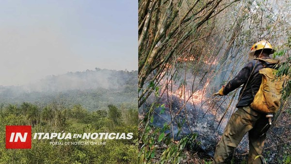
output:
[[[48,76],[21,86],[0,86],[0,163],[136,164],[137,71],[96,68]],[[72,140],[34,140],[32,149],[6,149],[5,125],[32,125],[35,132],[133,133],[106,145],[52,145]],[[93,140],[85,140],[93,141]]]

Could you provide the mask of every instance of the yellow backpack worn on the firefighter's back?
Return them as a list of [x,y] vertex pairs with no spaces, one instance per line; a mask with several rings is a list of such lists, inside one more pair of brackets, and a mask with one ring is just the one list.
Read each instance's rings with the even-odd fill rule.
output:
[[[269,63],[274,63],[272,59],[260,59]],[[278,63],[278,61],[277,61]],[[276,113],[280,108],[283,85],[288,77],[275,78],[276,69],[262,68],[259,73],[263,75],[259,91],[255,95],[250,107],[260,113]]]

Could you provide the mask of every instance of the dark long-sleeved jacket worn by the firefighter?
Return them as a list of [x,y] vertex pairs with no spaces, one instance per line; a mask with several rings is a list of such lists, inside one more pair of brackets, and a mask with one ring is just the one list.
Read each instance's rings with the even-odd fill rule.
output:
[[235,78],[226,84],[224,95],[227,95],[243,84],[236,106],[237,108],[249,106],[253,102],[262,82],[262,75],[259,74],[259,70],[264,67],[272,68],[278,63],[277,60],[272,60],[270,57],[263,57],[262,59],[269,59],[269,61],[265,62],[257,59],[250,61],[242,68]]

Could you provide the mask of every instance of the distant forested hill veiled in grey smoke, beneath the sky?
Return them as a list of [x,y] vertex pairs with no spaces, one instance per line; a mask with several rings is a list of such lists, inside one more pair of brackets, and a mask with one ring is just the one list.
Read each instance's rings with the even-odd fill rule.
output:
[[81,104],[88,110],[106,109],[109,104],[134,108],[137,102],[137,71],[96,68],[48,76],[22,86],[0,86],[0,104],[32,102],[39,105],[58,100],[65,105]]

